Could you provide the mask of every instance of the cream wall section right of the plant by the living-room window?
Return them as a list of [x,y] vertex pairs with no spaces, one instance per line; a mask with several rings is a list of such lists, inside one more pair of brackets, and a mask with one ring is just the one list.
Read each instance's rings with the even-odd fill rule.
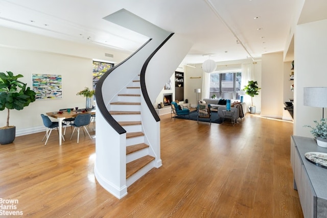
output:
[[282,118],[284,110],[283,53],[262,55],[261,116]]

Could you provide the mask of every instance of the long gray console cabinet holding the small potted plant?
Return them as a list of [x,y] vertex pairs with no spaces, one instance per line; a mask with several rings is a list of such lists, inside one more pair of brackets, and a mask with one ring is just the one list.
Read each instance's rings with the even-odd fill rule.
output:
[[291,165],[305,217],[327,217],[327,169],[305,158],[307,152],[327,153],[313,138],[291,136]]

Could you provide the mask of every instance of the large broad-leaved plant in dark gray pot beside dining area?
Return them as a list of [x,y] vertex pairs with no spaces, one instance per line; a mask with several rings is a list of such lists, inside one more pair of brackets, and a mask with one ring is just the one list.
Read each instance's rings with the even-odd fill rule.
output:
[[16,127],[9,126],[10,110],[22,110],[35,101],[35,92],[18,80],[21,77],[24,76],[14,76],[11,71],[0,72],[0,110],[7,109],[7,125],[0,128],[0,144],[11,143],[16,136]]

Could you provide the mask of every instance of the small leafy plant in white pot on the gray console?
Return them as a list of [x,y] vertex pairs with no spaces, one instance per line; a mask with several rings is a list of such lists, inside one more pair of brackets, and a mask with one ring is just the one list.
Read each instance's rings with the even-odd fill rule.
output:
[[322,118],[320,123],[314,120],[315,127],[305,125],[304,127],[311,128],[311,134],[316,138],[317,144],[320,147],[327,148],[327,119]]

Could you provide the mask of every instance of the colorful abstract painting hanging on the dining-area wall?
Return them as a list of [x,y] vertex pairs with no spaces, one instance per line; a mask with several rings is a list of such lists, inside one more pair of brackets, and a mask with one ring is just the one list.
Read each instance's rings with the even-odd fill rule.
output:
[[32,84],[36,100],[62,99],[61,75],[32,74]]

